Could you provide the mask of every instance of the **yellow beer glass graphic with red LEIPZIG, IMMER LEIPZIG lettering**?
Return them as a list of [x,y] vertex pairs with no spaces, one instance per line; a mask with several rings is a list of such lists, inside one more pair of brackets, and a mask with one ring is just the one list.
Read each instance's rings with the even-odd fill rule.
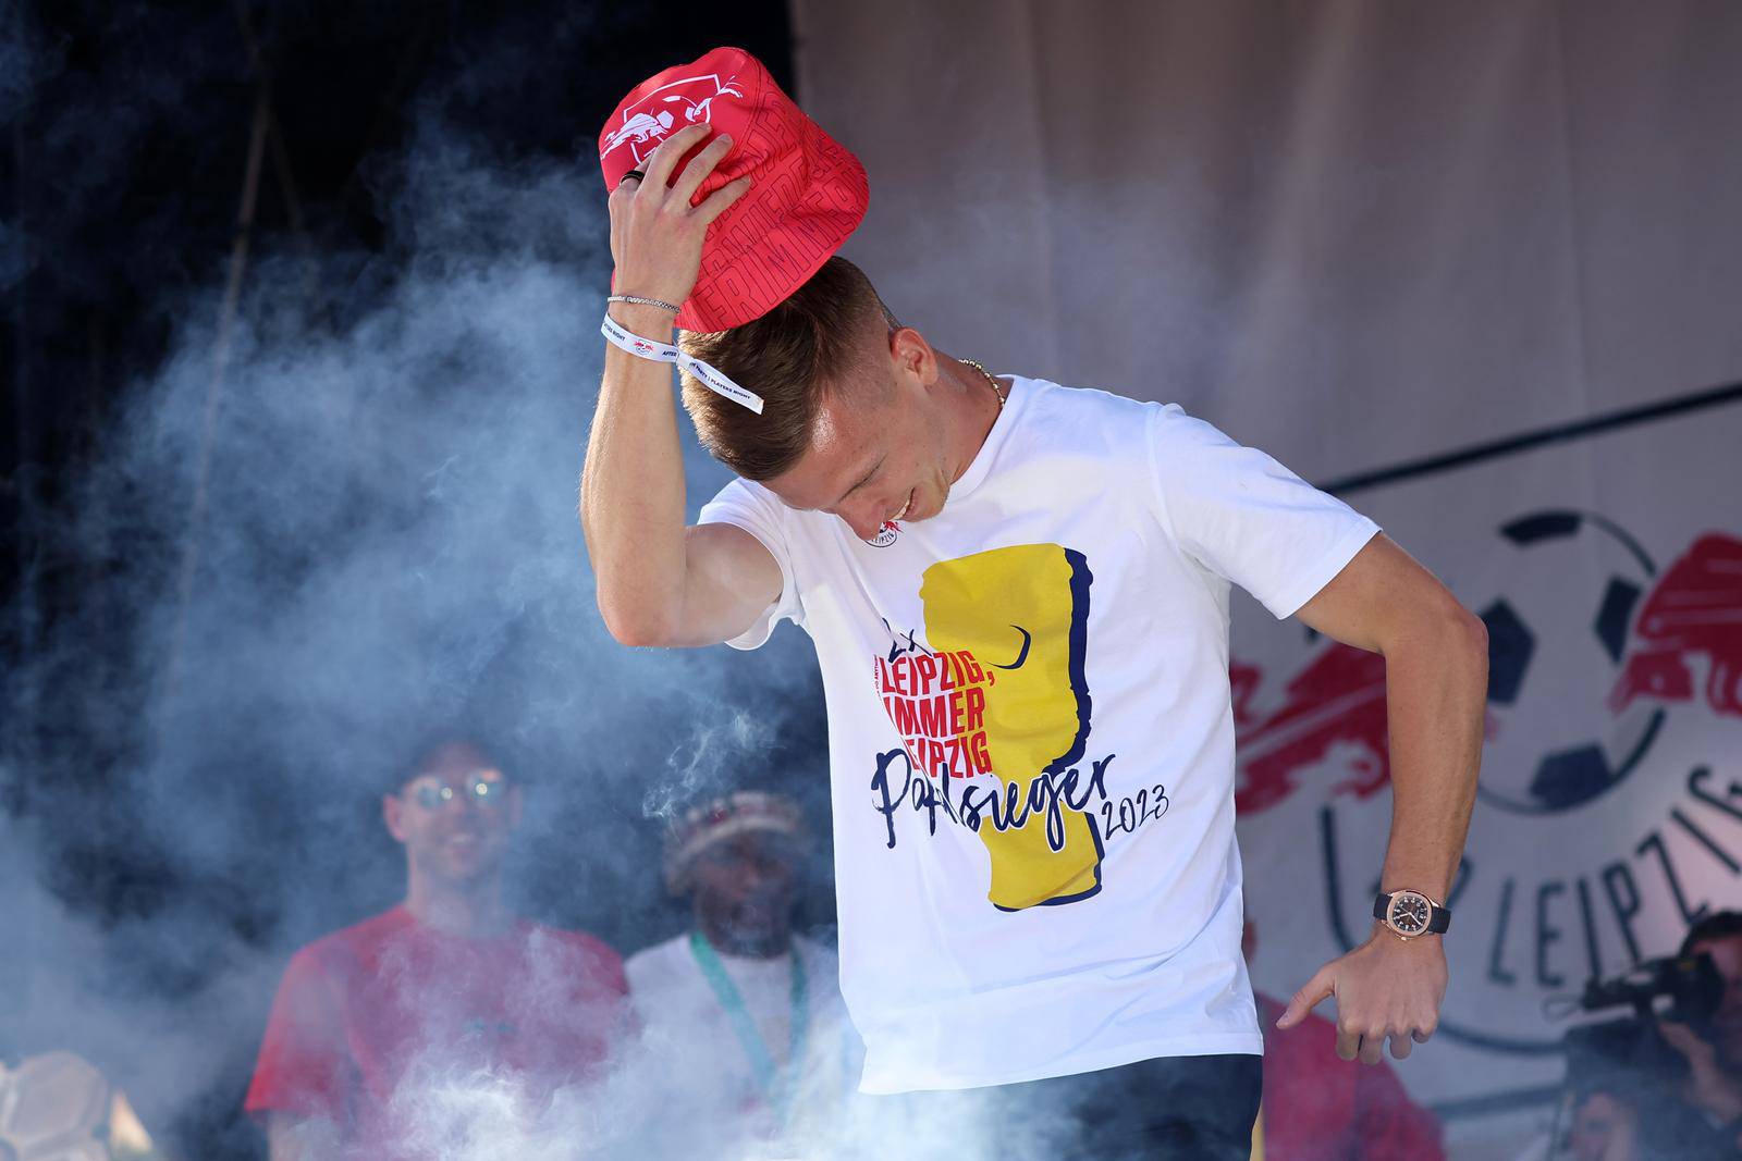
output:
[[1061,545],[939,560],[920,583],[927,644],[895,642],[876,658],[902,748],[878,754],[873,792],[890,811],[937,804],[977,832],[986,898],[1003,910],[1101,889],[1101,834],[1078,768],[1094,708],[1084,675],[1092,581],[1084,554]]

